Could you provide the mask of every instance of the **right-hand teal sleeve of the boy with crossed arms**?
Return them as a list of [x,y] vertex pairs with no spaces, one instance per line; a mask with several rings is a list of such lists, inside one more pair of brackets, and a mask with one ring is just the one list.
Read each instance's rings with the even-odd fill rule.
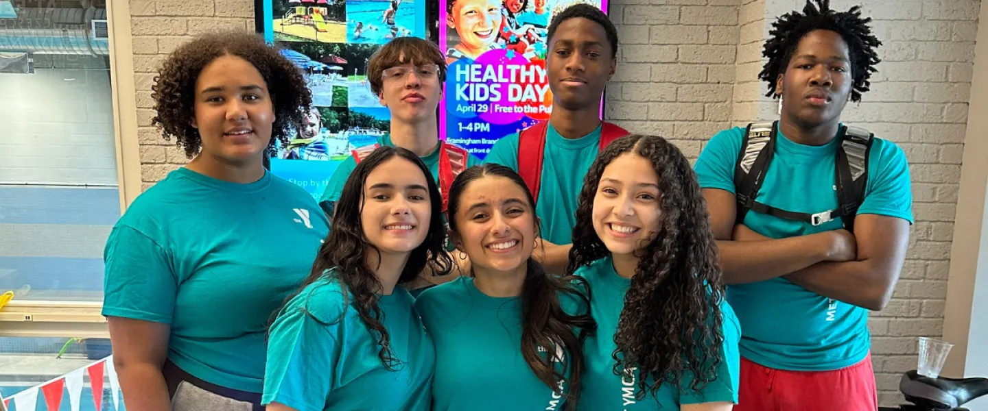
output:
[[858,214],[897,217],[913,224],[912,182],[906,155],[888,140],[874,143],[868,159],[864,202]]

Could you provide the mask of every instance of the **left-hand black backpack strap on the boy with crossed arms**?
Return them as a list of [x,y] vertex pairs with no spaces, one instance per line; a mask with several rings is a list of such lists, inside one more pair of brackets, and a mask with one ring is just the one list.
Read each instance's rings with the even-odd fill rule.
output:
[[756,205],[755,197],[765,181],[765,173],[776,151],[776,127],[778,121],[748,124],[745,130],[734,167],[734,198],[737,200],[735,224],[742,224],[745,215]]

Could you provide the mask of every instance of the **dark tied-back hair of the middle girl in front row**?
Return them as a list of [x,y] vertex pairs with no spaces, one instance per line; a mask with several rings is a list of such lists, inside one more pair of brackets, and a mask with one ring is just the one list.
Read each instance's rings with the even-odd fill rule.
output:
[[[507,167],[488,163],[473,166],[460,172],[450,186],[449,218],[450,233],[459,237],[456,212],[460,207],[460,197],[469,184],[484,176],[500,176],[510,179],[525,191],[528,207],[535,213],[535,197],[525,180],[518,172]],[[537,230],[538,222],[535,222]],[[536,231],[537,236],[537,231]],[[526,261],[526,277],[522,286],[522,358],[542,383],[553,392],[561,394],[558,381],[567,379],[569,390],[566,395],[566,409],[573,410],[580,399],[580,376],[584,370],[583,344],[597,331],[597,322],[590,315],[590,287],[586,280],[577,276],[553,276],[545,272],[535,258]],[[471,273],[472,274],[472,273]],[[566,295],[578,301],[583,312],[568,313],[562,308],[559,296]],[[540,356],[540,347],[562,347],[565,358],[552,355]],[[551,351],[550,351],[551,352]],[[561,370],[553,363],[563,364]],[[569,377],[567,378],[567,374]]]

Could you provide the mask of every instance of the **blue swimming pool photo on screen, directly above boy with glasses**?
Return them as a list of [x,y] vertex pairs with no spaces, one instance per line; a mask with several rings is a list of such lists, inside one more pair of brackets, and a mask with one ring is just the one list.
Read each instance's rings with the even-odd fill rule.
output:
[[415,2],[425,0],[350,0],[347,2],[347,42],[383,44],[394,37],[425,37],[415,33]]

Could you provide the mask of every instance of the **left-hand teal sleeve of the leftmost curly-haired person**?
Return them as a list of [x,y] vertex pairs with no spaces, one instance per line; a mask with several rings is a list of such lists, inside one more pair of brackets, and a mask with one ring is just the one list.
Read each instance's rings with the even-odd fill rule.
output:
[[118,225],[104,249],[103,315],[172,323],[178,278],[164,248]]

